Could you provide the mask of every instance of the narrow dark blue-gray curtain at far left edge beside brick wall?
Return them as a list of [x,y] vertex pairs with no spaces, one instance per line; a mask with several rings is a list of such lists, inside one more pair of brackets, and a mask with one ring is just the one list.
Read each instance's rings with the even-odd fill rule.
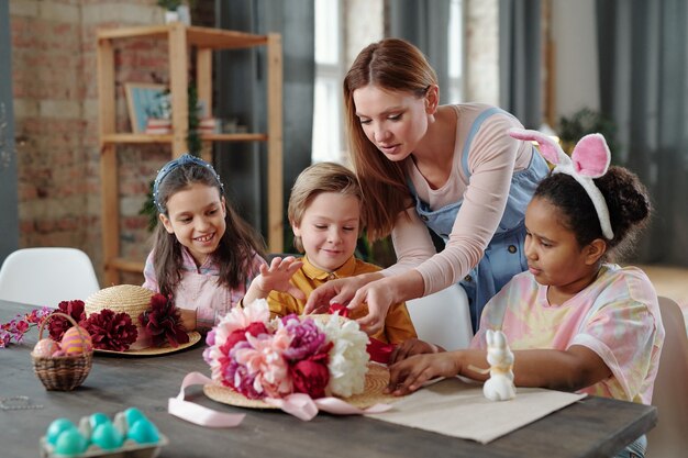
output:
[[9,4],[0,2],[0,265],[19,247],[11,40]]

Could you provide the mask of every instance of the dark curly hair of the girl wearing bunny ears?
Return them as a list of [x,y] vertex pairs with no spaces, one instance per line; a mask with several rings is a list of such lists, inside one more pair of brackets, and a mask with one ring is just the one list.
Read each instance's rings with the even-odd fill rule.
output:
[[562,224],[576,234],[579,246],[586,246],[596,238],[607,242],[607,258],[620,258],[629,254],[640,231],[646,225],[652,206],[647,190],[637,176],[626,168],[611,166],[607,174],[596,178],[607,208],[612,239],[602,235],[600,220],[586,190],[566,174],[552,174],[540,182],[534,198],[546,199],[564,215]]

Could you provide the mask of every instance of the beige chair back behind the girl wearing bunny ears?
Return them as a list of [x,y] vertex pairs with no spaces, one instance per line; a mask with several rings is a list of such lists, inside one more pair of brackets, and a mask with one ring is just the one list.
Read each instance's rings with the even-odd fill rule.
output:
[[647,434],[647,458],[675,458],[688,450],[688,336],[678,304],[659,297],[664,347],[652,404],[659,421]]

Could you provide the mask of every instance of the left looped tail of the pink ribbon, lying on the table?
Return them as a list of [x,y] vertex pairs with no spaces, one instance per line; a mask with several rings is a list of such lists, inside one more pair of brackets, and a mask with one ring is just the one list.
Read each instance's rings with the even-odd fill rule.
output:
[[208,427],[235,427],[238,426],[246,414],[222,413],[204,407],[193,402],[185,401],[184,390],[195,384],[209,384],[213,381],[200,372],[189,372],[181,381],[181,390],[177,398],[170,398],[167,403],[167,412],[181,420],[200,426]]

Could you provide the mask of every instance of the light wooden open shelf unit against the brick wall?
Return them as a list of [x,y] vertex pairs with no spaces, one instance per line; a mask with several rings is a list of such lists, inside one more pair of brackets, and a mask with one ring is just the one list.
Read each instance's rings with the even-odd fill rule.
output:
[[[171,146],[171,156],[187,152],[189,51],[196,48],[198,99],[212,109],[212,52],[220,49],[267,47],[267,133],[203,134],[206,142],[266,142],[268,193],[268,249],[282,247],[282,48],[279,34],[255,35],[209,27],[166,25],[99,30],[98,101],[100,113],[100,176],[102,182],[102,237],[106,284],[118,284],[120,271],[141,272],[143,262],[123,259],[120,254],[120,214],[118,185],[118,145],[163,143]],[[121,38],[167,40],[173,134],[147,135],[116,132],[115,62],[113,42]],[[204,157],[212,160],[211,157]]]

